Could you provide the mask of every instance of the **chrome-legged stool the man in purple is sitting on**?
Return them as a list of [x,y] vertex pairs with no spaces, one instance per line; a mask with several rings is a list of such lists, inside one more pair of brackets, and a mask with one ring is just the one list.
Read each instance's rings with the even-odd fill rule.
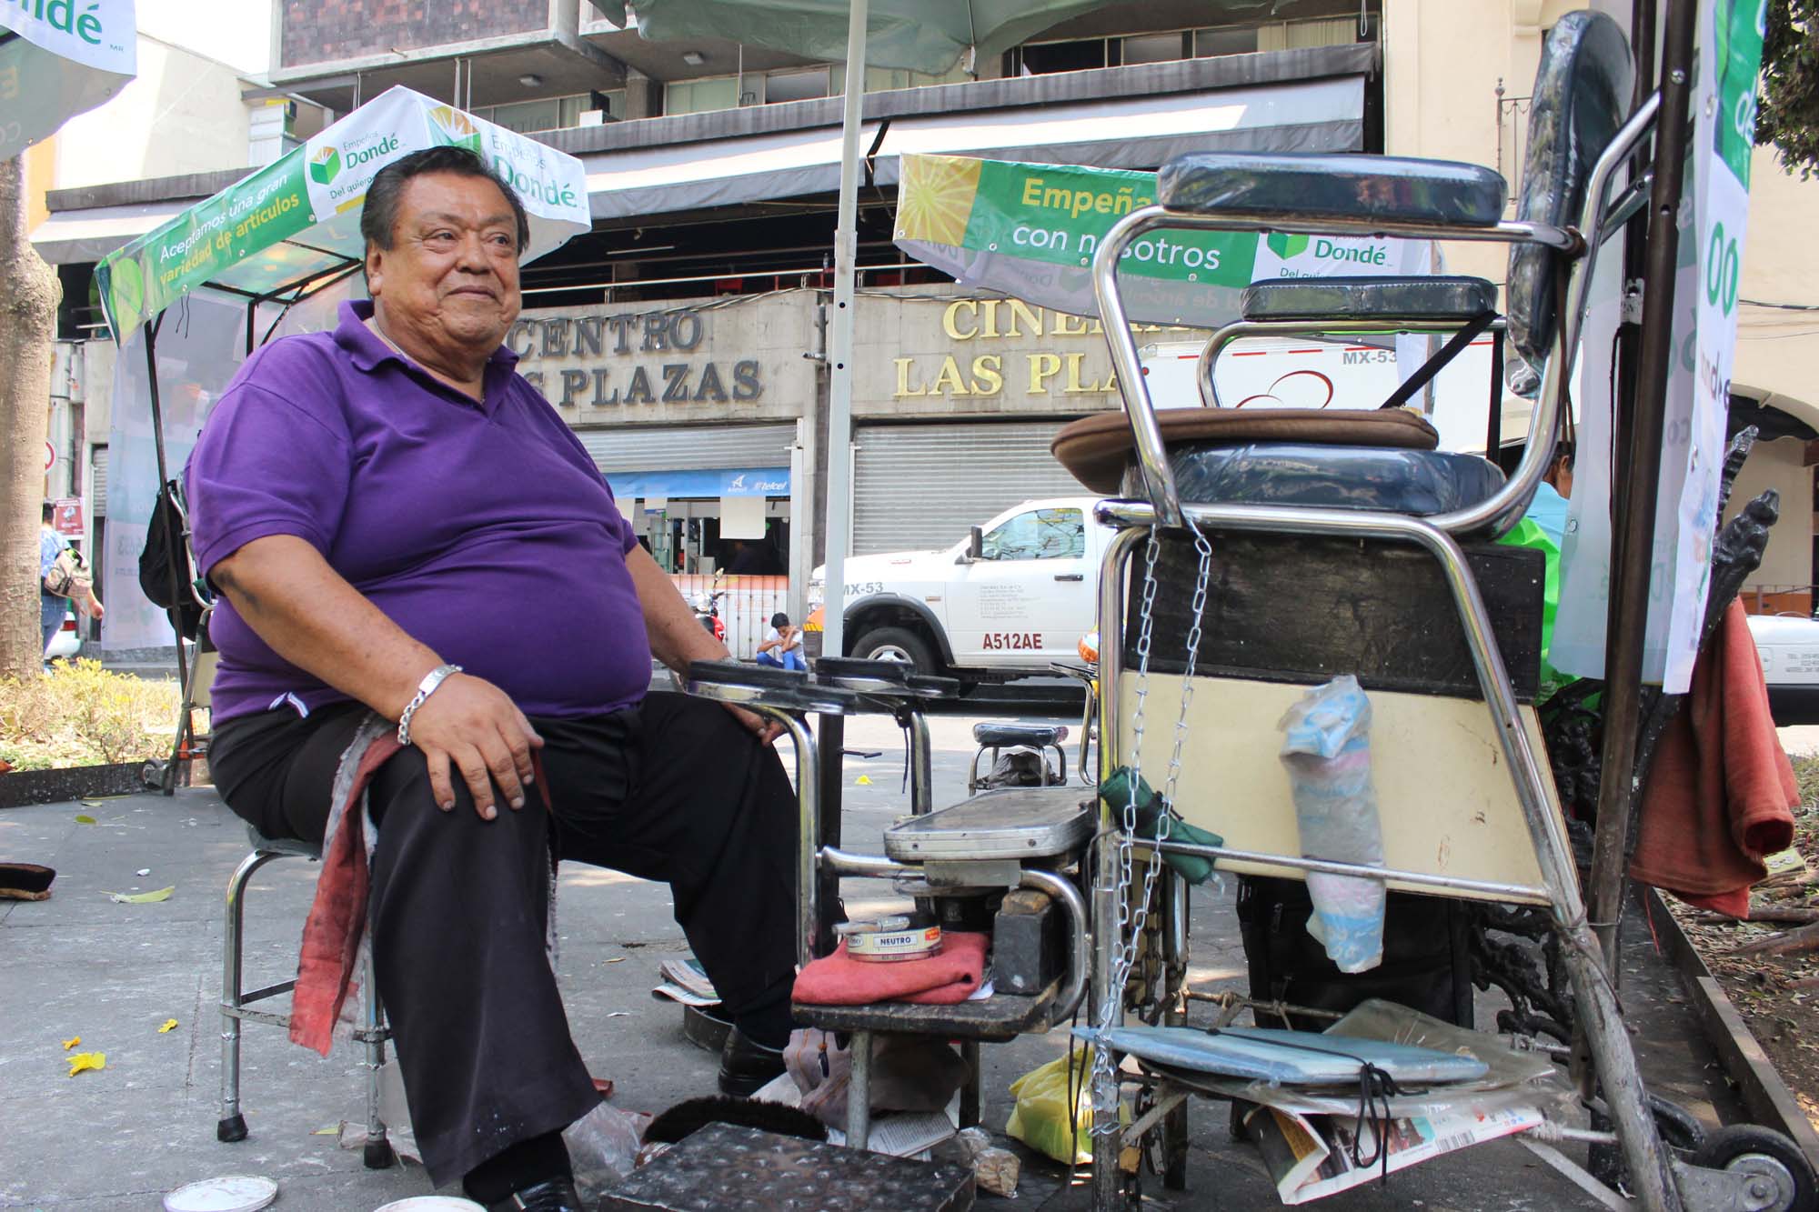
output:
[[[253,872],[273,859],[322,859],[322,846],[289,841],[284,837],[266,837],[251,824],[246,826],[253,853],[240,861],[227,879],[227,915],[222,930],[222,1117],[215,1125],[216,1141],[244,1141],[246,1116],[240,1114],[240,1023],[269,1023],[271,1026],[291,1026],[289,1014],[273,1010],[251,1010],[255,1001],[266,1001],[287,994],[296,981],[280,981],[247,992],[240,972],[240,926],[246,921],[246,886]],[[378,983],[373,972],[373,954],[367,948],[366,970],[360,974],[360,1026],[353,1037],[366,1045],[366,1154],[369,1170],[384,1170],[395,1159],[391,1141],[386,1139],[386,1123],[378,1116],[378,1070],[386,1063],[386,1041],[391,1028],[386,1025],[386,1010],[378,1003]]]

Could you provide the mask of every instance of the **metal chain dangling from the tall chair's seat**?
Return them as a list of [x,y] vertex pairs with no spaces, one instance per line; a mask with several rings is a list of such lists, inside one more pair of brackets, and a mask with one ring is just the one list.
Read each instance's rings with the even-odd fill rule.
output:
[[[1162,810],[1157,819],[1155,841],[1168,841],[1170,830],[1173,826],[1175,810],[1175,784],[1181,779],[1181,755],[1188,741],[1188,708],[1193,702],[1193,668],[1201,653],[1201,624],[1206,619],[1206,590],[1211,584],[1213,571],[1213,544],[1206,540],[1201,528],[1188,519],[1188,530],[1193,533],[1193,550],[1199,555],[1199,570],[1193,581],[1193,606],[1188,622],[1188,655],[1182,668],[1181,679],[1181,710],[1175,717],[1175,744],[1168,757],[1168,773],[1162,783]],[[1162,850],[1157,846],[1150,848],[1150,863],[1142,874],[1142,895],[1137,897],[1135,908],[1131,906],[1131,883],[1133,883],[1133,850],[1137,837],[1137,784],[1142,777],[1142,739],[1144,739],[1144,706],[1150,697],[1150,650],[1155,633],[1155,591],[1157,575],[1155,564],[1161,555],[1162,540],[1157,528],[1150,530],[1150,540],[1144,548],[1144,586],[1142,586],[1142,604],[1137,613],[1137,706],[1131,719],[1131,755],[1126,768],[1130,777],[1126,786],[1130,790],[1124,801],[1122,828],[1119,830],[1119,863],[1117,863],[1117,950],[1111,959],[1111,981],[1110,988],[1100,992],[1099,1015],[1093,1026],[1099,1032],[1111,1030],[1121,1017],[1124,1005],[1124,986],[1130,983],[1131,966],[1137,961],[1139,939],[1144,932],[1144,924],[1150,917],[1150,904],[1155,899],[1155,881],[1157,874],[1162,870]],[[1100,742],[1104,742],[1100,739]],[[1100,839],[1100,844],[1104,841]],[[1108,1048],[1099,1046],[1093,1052],[1093,1136],[1113,1136],[1119,1132],[1119,1114],[1117,1114],[1117,1086],[1111,1085],[1113,1065]],[[1102,1105],[1102,1090],[1110,1090],[1111,1097]]]

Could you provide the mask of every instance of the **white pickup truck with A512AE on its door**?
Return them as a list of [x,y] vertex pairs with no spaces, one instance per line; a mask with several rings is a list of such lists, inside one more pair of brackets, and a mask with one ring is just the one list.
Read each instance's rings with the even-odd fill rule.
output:
[[[1024,500],[937,551],[846,561],[846,650],[935,673],[955,666],[1046,668],[1079,661],[1099,613],[1099,559],[1111,530],[1099,497]],[[809,581],[824,597],[826,570]]]

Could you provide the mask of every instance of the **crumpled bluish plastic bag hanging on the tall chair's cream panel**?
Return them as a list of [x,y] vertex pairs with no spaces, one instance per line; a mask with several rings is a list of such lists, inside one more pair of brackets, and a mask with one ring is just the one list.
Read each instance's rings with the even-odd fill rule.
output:
[[[1282,766],[1295,795],[1301,853],[1382,866],[1382,826],[1370,781],[1370,699],[1346,673],[1315,686],[1282,715]],[[1382,963],[1381,879],[1308,872],[1308,934],[1341,972]]]

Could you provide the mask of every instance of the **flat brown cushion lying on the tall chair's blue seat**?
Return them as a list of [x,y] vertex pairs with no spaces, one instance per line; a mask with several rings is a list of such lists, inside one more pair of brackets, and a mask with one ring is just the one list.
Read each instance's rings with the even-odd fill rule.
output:
[[[1322,408],[1164,408],[1155,415],[1162,446],[1244,446],[1291,442],[1301,446],[1379,446],[1433,449],[1441,435],[1419,413],[1406,409]],[[1130,420],[1122,411],[1095,413],[1062,426],[1050,444],[1060,466],[1088,491],[1113,497],[1124,488],[1124,468],[1135,460]]]

